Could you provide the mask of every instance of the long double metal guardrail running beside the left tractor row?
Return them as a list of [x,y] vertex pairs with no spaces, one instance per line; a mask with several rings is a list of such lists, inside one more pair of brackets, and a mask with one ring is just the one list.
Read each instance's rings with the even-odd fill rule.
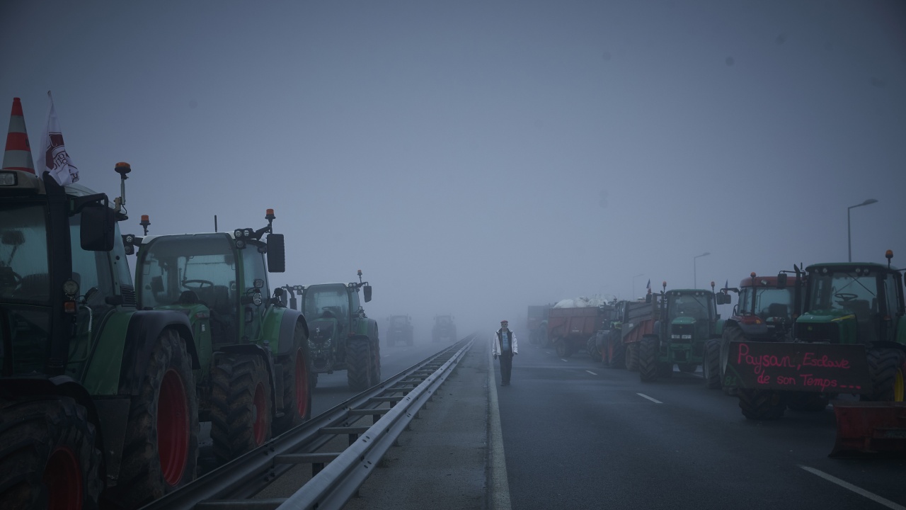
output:
[[[460,340],[142,510],[342,508],[474,341],[475,335]],[[371,426],[357,425],[369,416]],[[349,436],[344,451],[319,453],[341,435]],[[299,464],[311,464],[313,476],[294,495],[250,499]]]

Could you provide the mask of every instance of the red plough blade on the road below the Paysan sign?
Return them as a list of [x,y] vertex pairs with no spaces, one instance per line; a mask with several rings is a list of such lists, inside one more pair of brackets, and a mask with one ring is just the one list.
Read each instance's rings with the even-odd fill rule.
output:
[[906,456],[906,402],[834,402],[837,440],[830,456]]

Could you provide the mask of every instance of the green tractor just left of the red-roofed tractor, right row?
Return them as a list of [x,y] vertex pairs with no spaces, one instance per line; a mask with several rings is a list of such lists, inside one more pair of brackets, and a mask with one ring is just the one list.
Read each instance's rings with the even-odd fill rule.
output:
[[717,305],[726,304],[729,296],[705,289],[672,289],[660,294],[660,320],[654,332],[639,342],[639,378],[652,381],[669,378],[673,366],[681,372],[695,372],[704,358],[705,343],[720,338],[723,321]]

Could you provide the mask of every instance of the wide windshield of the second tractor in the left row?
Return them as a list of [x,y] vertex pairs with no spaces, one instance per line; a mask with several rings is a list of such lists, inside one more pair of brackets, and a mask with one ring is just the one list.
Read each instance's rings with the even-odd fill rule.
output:
[[139,250],[139,307],[202,303],[226,314],[236,308],[236,260],[224,234],[154,238]]

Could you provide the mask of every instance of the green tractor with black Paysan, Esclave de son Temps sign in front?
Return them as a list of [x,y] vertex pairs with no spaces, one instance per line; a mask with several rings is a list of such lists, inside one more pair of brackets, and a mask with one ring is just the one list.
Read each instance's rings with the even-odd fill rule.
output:
[[[777,419],[787,407],[821,411],[838,394],[904,400],[903,280],[890,265],[892,251],[886,257],[887,266],[836,262],[804,272],[795,268],[795,309],[803,312],[795,318],[793,341],[730,343],[724,384],[738,388],[745,417]],[[777,280],[786,286],[786,274]]]

